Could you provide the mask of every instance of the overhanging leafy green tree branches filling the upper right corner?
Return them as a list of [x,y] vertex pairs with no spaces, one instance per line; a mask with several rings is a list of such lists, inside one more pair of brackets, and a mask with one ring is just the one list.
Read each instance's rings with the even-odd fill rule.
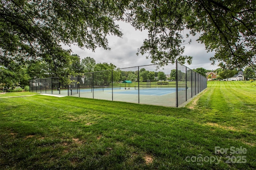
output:
[[197,34],[198,42],[215,51],[212,63],[221,61],[219,65],[225,69],[250,65],[256,70],[256,1],[134,1],[129,9],[129,22],[137,29],[149,30],[138,53],[148,53],[154,63],[176,58],[191,63],[192,57],[183,55],[182,32],[187,29],[186,38]]

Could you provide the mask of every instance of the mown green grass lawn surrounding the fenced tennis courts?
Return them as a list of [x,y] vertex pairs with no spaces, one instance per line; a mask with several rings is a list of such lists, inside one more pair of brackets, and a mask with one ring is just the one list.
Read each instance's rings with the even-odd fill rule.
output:
[[256,169],[256,87],[211,81],[183,108],[0,98],[0,169]]

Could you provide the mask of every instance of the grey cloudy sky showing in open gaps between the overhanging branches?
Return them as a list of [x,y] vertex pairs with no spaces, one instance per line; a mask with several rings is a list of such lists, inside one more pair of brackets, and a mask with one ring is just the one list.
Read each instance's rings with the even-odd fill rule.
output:
[[[151,59],[146,59],[146,55],[136,55],[137,49],[142,45],[143,40],[147,38],[147,31],[135,30],[130,24],[118,22],[120,29],[123,32],[122,38],[116,36],[108,36],[108,45],[111,50],[97,48],[95,52],[89,49],[80,49],[72,45],[71,47],[64,47],[72,49],[73,53],[80,56],[81,59],[85,57],[92,57],[96,63],[112,63],[119,68],[133,67],[138,65],[152,64]],[[196,42],[196,38],[192,37],[192,43],[185,45],[184,55],[191,55],[193,57],[192,64],[185,65],[191,69],[203,67],[205,69],[217,69],[217,65],[211,65],[209,58],[214,53],[207,53],[204,44]]]

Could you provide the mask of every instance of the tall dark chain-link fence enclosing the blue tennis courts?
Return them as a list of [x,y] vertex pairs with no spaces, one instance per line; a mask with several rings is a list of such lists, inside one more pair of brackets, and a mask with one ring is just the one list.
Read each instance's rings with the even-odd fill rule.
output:
[[58,78],[30,80],[30,91],[178,107],[207,87],[206,77],[178,62],[84,73],[70,81],[61,85]]

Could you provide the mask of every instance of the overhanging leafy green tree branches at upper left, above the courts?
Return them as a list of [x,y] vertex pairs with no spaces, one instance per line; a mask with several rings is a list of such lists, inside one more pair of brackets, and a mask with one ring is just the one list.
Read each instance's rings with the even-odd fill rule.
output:
[[[79,0],[3,0],[0,2],[0,67],[13,61],[46,62],[53,77],[67,77],[70,50],[60,43],[109,49],[108,34],[122,36],[115,20],[121,10],[112,2]],[[80,72],[73,62],[74,72]],[[11,71],[11,70],[10,70]],[[17,70],[18,71],[18,70]],[[18,71],[21,72],[22,70]]]

